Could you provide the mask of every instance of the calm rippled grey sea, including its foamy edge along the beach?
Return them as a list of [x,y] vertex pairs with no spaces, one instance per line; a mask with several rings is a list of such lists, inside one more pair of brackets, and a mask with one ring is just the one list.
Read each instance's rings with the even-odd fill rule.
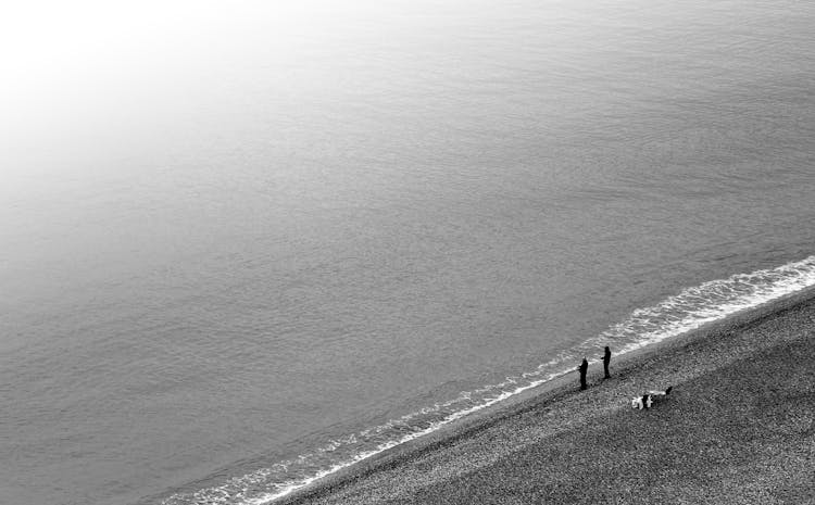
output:
[[2,503],[266,503],[815,283],[813,4],[195,5],[16,22]]

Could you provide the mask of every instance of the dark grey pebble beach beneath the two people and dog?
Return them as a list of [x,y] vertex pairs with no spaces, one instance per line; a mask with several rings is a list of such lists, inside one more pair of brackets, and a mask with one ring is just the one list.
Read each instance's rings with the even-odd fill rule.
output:
[[[276,503],[812,503],[814,290],[611,369],[603,380],[592,363],[587,391],[568,374]],[[667,401],[631,408],[668,386]]]

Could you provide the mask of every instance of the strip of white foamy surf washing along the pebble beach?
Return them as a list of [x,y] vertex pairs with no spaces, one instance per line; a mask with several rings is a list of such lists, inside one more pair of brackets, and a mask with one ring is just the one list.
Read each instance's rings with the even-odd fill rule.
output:
[[557,354],[535,370],[462,392],[447,402],[335,439],[311,453],[229,479],[221,485],[174,494],[162,505],[272,503],[327,475],[565,375],[574,369],[576,359],[597,354],[599,346],[612,343],[615,354],[624,354],[812,286],[815,286],[815,255],[684,289],[656,305],[634,311],[624,321]]

